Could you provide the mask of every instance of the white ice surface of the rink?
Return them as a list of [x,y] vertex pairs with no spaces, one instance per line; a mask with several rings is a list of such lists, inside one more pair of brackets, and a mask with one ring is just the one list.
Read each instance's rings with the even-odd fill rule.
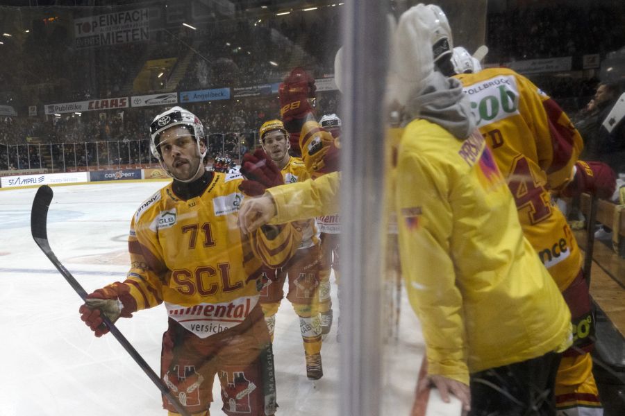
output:
[[[164,184],[53,187],[48,239],[87,292],[124,280],[130,218]],[[80,297],[35,245],[30,229],[35,191],[0,190],[0,415],[166,415],[159,390],[117,340],[110,334],[95,338],[80,320]],[[336,322],[334,279],[332,283]],[[381,415],[410,414],[422,360],[419,323],[402,299],[399,339],[385,342]],[[296,318],[285,300],[274,340],[276,415],[338,415],[336,325],[322,348],[324,377],[313,388],[306,379]],[[122,318],[117,327],[158,374],[160,340],[167,327],[164,307]],[[213,395],[211,414],[221,415],[218,381]],[[445,407],[437,406],[433,414],[443,414]]]

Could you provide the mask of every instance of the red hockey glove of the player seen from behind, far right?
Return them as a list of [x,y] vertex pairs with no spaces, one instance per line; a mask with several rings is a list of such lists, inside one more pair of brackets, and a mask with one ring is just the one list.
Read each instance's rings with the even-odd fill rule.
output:
[[578,196],[582,192],[596,194],[599,198],[610,198],[616,189],[616,175],[610,166],[601,162],[583,162],[575,164],[573,180],[562,191],[564,196]]

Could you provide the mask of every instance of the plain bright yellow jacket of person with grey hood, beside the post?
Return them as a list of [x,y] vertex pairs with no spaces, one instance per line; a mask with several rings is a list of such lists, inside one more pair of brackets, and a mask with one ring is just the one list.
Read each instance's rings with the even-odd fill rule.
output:
[[422,323],[428,372],[469,372],[570,345],[570,313],[522,234],[485,140],[426,120],[399,144],[396,209],[403,276]]

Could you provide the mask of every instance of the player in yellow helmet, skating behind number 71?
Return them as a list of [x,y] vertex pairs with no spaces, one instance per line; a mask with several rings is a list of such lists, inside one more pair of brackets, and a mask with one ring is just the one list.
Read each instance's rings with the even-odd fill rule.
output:
[[[263,149],[281,170],[285,184],[301,182],[310,177],[301,159],[289,155],[289,134],[282,121],[270,120],[263,123],[259,135]],[[243,167],[246,167],[245,162]],[[269,333],[273,337],[276,313],[283,298],[285,280],[288,278],[287,299],[299,316],[306,356],[306,375],[308,379],[317,380],[323,375],[320,313],[327,313],[330,309],[329,272],[322,268],[319,231],[315,220],[303,220],[299,225],[302,230],[299,250],[285,266],[276,271],[277,279],[268,281],[261,292],[260,303]]]

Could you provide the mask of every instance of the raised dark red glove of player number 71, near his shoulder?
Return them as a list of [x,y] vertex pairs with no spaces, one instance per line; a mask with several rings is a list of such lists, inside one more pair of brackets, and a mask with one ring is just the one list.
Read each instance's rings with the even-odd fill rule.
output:
[[284,184],[280,169],[262,148],[256,149],[253,155],[243,155],[239,171],[245,178],[239,189],[249,196],[263,195],[265,189]]

